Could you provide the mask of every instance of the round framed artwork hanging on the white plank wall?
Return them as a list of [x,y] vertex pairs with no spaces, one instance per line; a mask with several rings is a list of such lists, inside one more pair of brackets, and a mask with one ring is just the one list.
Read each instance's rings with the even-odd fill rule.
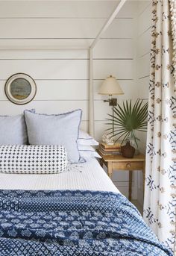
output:
[[5,83],[5,94],[10,102],[15,104],[27,104],[34,99],[37,86],[31,76],[17,73],[11,75]]

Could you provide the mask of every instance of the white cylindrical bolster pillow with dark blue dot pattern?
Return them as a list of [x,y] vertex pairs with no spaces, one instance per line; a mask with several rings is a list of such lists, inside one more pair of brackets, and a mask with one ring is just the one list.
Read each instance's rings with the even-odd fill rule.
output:
[[0,172],[55,174],[66,170],[67,163],[67,153],[63,146],[0,146]]

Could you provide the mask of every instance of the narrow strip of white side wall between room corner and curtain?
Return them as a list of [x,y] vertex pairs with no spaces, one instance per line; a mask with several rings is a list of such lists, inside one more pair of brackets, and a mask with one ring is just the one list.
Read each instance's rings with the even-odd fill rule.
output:
[[[138,40],[136,66],[139,88],[139,98],[148,101],[149,72],[150,72],[150,49],[151,49],[151,1],[140,1],[138,5]],[[139,148],[145,153],[146,133],[137,134],[141,140]],[[138,201],[143,202],[142,174],[138,175]]]

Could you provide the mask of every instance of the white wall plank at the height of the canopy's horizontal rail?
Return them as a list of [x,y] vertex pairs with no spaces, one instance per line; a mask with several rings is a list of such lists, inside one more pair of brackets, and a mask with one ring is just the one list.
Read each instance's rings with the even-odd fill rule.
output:
[[[88,49],[93,39],[10,39],[0,40],[0,50],[52,50],[58,49]],[[98,41],[94,49],[95,57],[111,57],[111,58],[131,58],[133,53],[133,39],[101,39]],[[105,49],[105,50],[104,50]],[[65,51],[66,51],[65,50]],[[70,56],[74,56],[72,51],[68,51]],[[62,54],[62,53],[60,53]]]

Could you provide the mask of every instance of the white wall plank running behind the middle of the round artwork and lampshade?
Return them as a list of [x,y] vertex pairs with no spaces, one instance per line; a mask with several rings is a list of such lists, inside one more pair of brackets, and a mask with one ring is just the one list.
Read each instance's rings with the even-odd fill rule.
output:
[[[98,94],[103,80],[94,81],[94,99],[103,101],[108,96]],[[141,82],[142,83],[142,82]],[[5,80],[0,80],[0,100],[6,100],[4,93]],[[89,100],[88,80],[37,80],[37,95],[35,100]],[[134,81],[120,80],[124,95],[117,99],[136,99],[136,84]],[[107,103],[104,103],[107,104]]]

